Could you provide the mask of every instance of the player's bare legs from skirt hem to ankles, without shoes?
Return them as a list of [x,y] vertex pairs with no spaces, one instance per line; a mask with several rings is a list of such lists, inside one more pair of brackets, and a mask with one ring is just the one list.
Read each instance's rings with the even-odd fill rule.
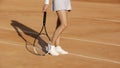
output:
[[64,31],[64,29],[67,27],[67,11],[60,10],[60,11],[57,11],[56,13],[58,16],[58,20],[57,20],[56,30],[55,30],[53,37],[52,37],[52,44],[53,45],[59,45],[60,35]]

